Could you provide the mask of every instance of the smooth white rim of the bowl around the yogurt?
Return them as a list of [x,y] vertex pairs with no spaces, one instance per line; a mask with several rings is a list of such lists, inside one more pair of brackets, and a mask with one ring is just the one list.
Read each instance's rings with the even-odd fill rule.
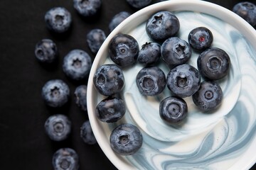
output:
[[[219,6],[218,4],[213,4],[208,1],[200,1],[200,0],[171,0],[171,1],[162,1],[156,4],[152,4],[150,6],[146,6],[145,8],[140,9],[139,11],[133,13],[127,19],[125,19],[122,23],[114,28],[110,35],[107,36],[105,42],[103,42],[100,50],[97,52],[94,62],[92,63],[88,83],[87,83],[87,113],[90,120],[90,124],[92,126],[92,131],[94,132],[95,138],[100,145],[102,151],[105,153],[110,162],[117,167],[117,169],[135,169],[132,164],[127,161],[124,161],[124,158],[120,155],[115,154],[111,147],[109,140],[103,139],[102,135],[106,136],[103,133],[102,127],[100,126],[100,120],[97,120],[95,115],[95,103],[91,100],[95,96],[95,86],[93,85],[93,76],[96,72],[97,67],[100,66],[102,62],[102,55],[110,42],[110,40],[117,35],[117,33],[125,33],[128,32],[129,29],[135,28],[136,26],[131,26],[131,23],[134,23],[135,20],[137,26],[142,23],[142,21],[146,21],[144,19],[145,16],[151,16],[153,13],[157,11],[197,11],[200,13],[206,13],[211,16],[215,16],[216,18],[220,18],[223,21],[229,23],[234,28],[238,29],[242,35],[245,35],[245,38],[250,42],[250,44],[256,49],[256,32],[255,28],[250,26],[244,19],[242,19],[237,14],[233,13],[233,11],[228,10],[223,6]],[[240,24],[237,24],[240,23]],[[127,27],[128,26],[128,27]],[[254,35],[254,36],[251,36]],[[90,98],[90,100],[88,100]],[[255,148],[256,149],[256,148]],[[256,162],[256,155],[255,157],[247,157],[247,164],[244,162],[236,162],[230,169],[235,169],[236,167],[244,167],[245,169],[250,169],[255,162]]]

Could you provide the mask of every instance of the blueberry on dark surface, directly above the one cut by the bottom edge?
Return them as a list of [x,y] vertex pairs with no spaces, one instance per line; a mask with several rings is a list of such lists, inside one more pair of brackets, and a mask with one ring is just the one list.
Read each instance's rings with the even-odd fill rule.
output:
[[71,131],[71,122],[65,115],[51,115],[44,125],[50,140],[62,141],[68,138]]

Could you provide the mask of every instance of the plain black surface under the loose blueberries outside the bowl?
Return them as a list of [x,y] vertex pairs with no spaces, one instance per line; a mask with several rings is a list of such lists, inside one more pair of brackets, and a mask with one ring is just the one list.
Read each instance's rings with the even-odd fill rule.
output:
[[[62,71],[63,57],[73,49],[85,50],[92,59],[86,35],[92,28],[109,34],[108,24],[120,11],[137,11],[125,0],[102,0],[95,18],[82,18],[72,0],[1,0],[0,1],[0,169],[53,169],[52,155],[61,147],[78,152],[80,169],[115,169],[99,145],[86,145],[80,139],[80,126],[87,113],[75,105],[75,87],[87,81],[70,81]],[[211,1],[232,9],[238,1]],[[156,3],[152,1],[152,4]],[[43,20],[50,8],[63,6],[73,16],[73,25],[65,35],[50,33]],[[52,67],[39,64],[34,56],[36,42],[53,40],[59,50],[58,62]],[[70,102],[60,109],[48,108],[41,98],[41,88],[50,79],[63,79],[71,92]],[[68,115],[73,123],[71,136],[64,142],[49,140],[44,131],[48,116]],[[256,167],[256,166],[255,166]]]

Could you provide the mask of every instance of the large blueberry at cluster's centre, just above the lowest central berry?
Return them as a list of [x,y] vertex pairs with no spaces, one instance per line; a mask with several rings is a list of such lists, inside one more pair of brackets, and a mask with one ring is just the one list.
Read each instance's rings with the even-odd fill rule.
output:
[[166,77],[168,89],[181,98],[191,96],[198,91],[201,77],[198,70],[190,64],[181,64],[171,69]]

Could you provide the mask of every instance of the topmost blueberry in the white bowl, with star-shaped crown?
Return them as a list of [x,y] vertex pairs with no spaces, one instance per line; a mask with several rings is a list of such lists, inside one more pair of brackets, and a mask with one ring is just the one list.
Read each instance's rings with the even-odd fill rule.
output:
[[176,35],[179,28],[178,18],[169,11],[154,13],[146,22],[146,33],[153,40],[161,42]]

